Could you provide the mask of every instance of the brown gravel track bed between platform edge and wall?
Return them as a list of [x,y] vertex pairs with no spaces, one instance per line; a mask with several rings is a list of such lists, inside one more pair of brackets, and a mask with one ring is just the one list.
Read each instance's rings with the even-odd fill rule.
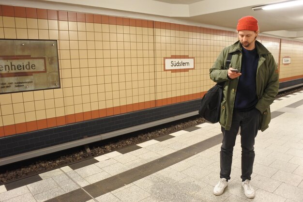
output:
[[[276,98],[302,90],[303,87],[288,92],[280,93],[276,96]],[[91,147],[90,153],[87,153],[86,150],[82,147],[81,149],[78,149],[78,151],[76,152],[74,151],[72,153],[61,155],[53,159],[49,158],[48,160],[44,159],[44,160],[37,160],[35,162],[26,162],[25,165],[19,166],[14,169],[8,166],[0,170],[0,185],[9,183],[11,181],[15,181],[20,178],[24,178],[26,176],[31,176],[33,174],[66,166],[80,160],[84,160],[98,155],[103,155],[121,149],[126,146],[138,144],[140,142],[151,140],[163,135],[167,135],[175,131],[179,131],[197,124],[202,124],[204,122],[205,120],[203,118],[195,116],[181,121],[176,121],[171,124],[163,124],[161,126],[146,130],[143,133],[137,132],[136,135],[126,137],[123,139],[121,139],[120,137],[119,140],[118,139],[112,140],[111,142],[108,142],[105,145],[98,145],[94,143],[90,146]]]

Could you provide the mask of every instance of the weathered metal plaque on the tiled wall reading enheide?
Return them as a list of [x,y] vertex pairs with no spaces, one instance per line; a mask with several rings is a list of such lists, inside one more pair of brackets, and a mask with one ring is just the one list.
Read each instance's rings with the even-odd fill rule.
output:
[[60,88],[56,40],[0,39],[0,94]]

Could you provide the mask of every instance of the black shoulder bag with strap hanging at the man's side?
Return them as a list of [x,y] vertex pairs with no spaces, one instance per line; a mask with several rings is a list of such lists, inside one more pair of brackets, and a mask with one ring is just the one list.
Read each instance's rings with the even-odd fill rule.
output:
[[[232,55],[228,53],[225,69],[229,68],[231,57]],[[204,94],[201,100],[199,115],[213,124],[220,120],[224,84],[225,81],[214,85],[207,93]]]

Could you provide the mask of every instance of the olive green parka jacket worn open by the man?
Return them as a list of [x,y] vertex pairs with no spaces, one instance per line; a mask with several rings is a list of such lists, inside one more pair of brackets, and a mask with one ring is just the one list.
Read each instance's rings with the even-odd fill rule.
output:
[[[256,76],[258,103],[256,108],[260,111],[259,130],[268,128],[271,121],[270,105],[273,103],[279,89],[279,75],[277,63],[273,55],[260,42],[255,42],[259,60]],[[227,76],[227,69],[224,69],[228,53],[232,54],[229,67],[241,71],[242,45],[240,41],[225,47],[210,69],[210,77],[214,82],[226,81],[224,85],[224,98],[221,102],[220,124],[229,130],[232,121],[232,113],[235,103],[239,78],[230,79]],[[241,76],[240,76],[241,77]]]

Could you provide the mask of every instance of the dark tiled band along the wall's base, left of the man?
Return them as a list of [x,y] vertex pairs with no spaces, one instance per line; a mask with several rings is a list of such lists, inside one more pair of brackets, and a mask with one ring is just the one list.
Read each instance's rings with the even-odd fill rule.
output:
[[200,99],[0,139],[0,158],[92,137],[198,110]]

